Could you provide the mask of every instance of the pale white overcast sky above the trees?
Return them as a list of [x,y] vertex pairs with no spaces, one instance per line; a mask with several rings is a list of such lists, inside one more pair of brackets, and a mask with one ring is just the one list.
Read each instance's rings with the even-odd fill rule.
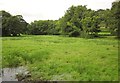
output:
[[57,20],[72,5],[87,5],[92,10],[110,9],[115,0],[0,0],[0,10],[22,15],[28,22]]

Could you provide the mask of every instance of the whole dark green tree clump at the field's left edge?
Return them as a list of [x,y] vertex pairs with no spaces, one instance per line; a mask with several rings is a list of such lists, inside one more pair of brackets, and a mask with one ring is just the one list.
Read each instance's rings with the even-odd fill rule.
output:
[[2,35],[17,36],[25,33],[27,22],[21,15],[12,16],[6,11],[2,12]]

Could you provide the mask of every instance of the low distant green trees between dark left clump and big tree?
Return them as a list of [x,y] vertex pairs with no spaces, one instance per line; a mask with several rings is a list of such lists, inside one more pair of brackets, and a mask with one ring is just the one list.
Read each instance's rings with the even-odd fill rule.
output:
[[56,21],[53,20],[39,20],[34,21],[28,25],[30,34],[33,35],[54,35],[59,34],[56,29]]

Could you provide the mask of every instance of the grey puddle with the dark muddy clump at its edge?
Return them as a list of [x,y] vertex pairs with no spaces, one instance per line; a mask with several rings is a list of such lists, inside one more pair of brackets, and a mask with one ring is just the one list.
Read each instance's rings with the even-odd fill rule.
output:
[[0,81],[22,81],[30,76],[29,71],[26,67],[16,67],[16,68],[3,68]]

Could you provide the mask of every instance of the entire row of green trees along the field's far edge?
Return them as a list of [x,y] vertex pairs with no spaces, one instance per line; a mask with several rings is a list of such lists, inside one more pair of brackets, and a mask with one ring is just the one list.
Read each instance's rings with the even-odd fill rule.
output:
[[13,16],[4,10],[2,13],[2,36],[68,35],[72,37],[98,37],[101,27],[111,35],[120,37],[120,1],[113,2],[111,9],[97,11],[86,6],[71,6],[58,20],[38,20],[27,23],[22,15]]

